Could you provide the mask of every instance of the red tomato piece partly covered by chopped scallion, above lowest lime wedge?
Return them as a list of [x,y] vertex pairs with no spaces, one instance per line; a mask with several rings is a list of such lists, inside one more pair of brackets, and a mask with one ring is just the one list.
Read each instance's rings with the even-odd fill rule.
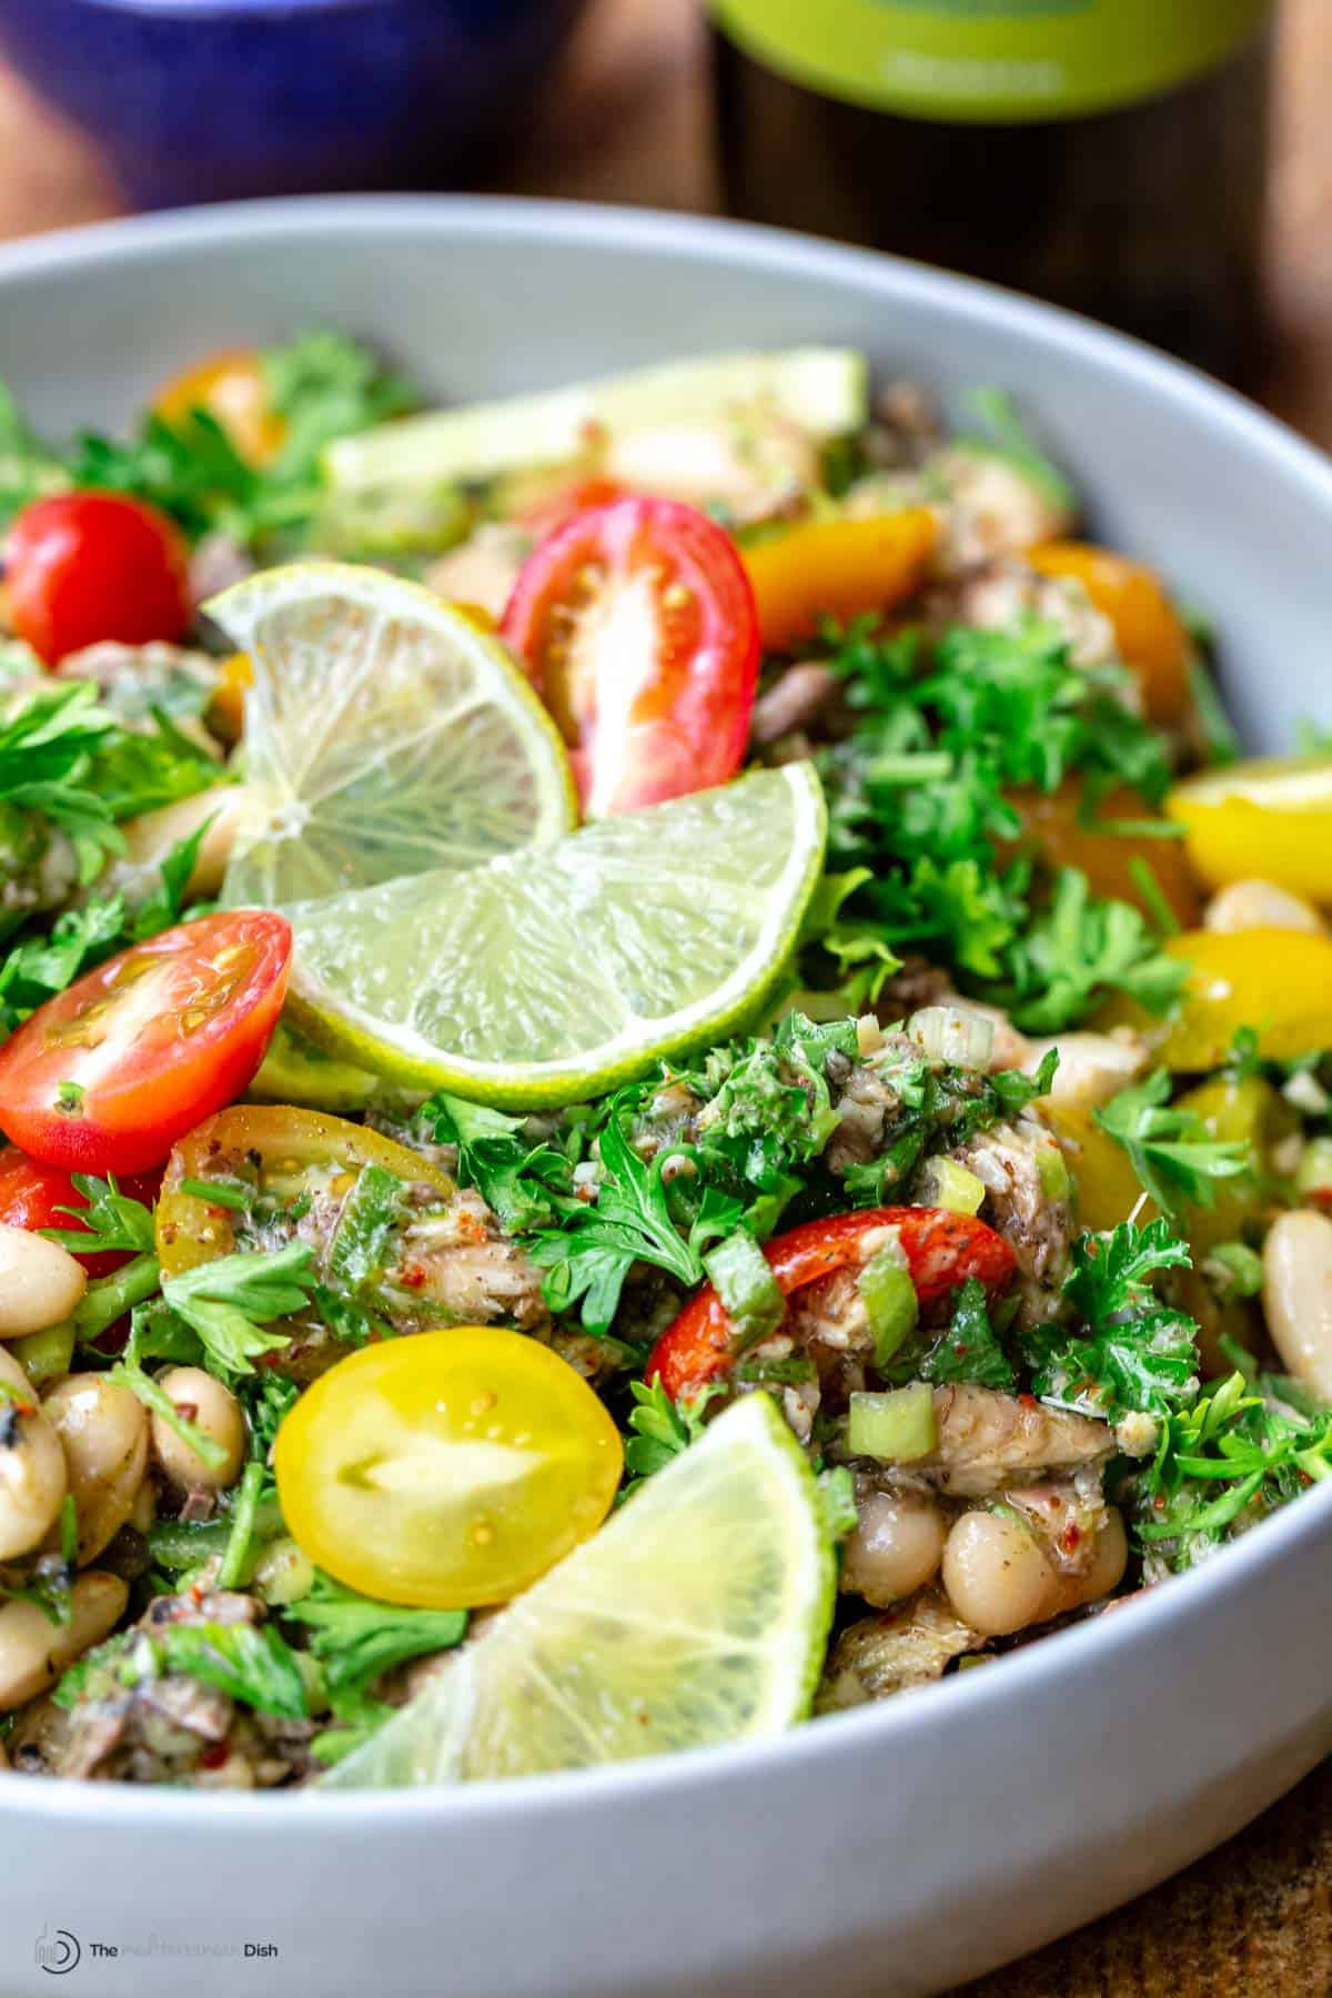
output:
[[[861,1239],[871,1229],[899,1231],[921,1305],[937,1305],[969,1277],[979,1277],[991,1295],[1012,1281],[1012,1249],[985,1221],[947,1207],[867,1207],[831,1221],[807,1221],[767,1245],[763,1255],[783,1297],[861,1263]],[[671,1401],[679,1401],[725,1373],[735,1353],[731,1319],[709,1283],[665,1329],[649,1355],[645,1379],[659,1379]]]

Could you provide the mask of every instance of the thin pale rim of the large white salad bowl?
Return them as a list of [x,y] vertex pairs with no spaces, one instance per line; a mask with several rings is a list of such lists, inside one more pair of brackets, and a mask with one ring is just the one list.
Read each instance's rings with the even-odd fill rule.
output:
[[[94,0],[98,4],[98,0]],[[226,0],[220,0],[226,4]],[[310,0],[316,4],[316,0]],[[96,222],[84,228],[56,230],[0,246],[0,302],[10,286],[42,276],[78,274],[136,262],[164,262],[178,250],[208,246],[250,248],[284,238],[335,238],[363,234],[373,224],[377,238],[413,236],[431,224],[443,236],[513,242],[551,238],[569,244],[593,244],[619,256],[687,256],[691,262],[747,266],[763,272],[791,272],[841,282],[885,298],[911,298],[915,304],[971,320],[983,326],[1002,326],[1022,344],[1044,350],[1050,358],[1076,356],[1116,378],[1130,394],[1152,394],[1182,408],[1194,422],[1210,428],[1222,440],[1234,442],[1268,460],[1272,472],[1300,486],[1310,503],[1332,519],[1332,458],[1298,438],[1280,420],[1246,398],[1212,382],[1208,376],[1176,362],[1154,348],[1114,334],[1076,314],[1036,300],[1020,298],[975,278],[961,278],[927,264],[893,258],[871,250],[831,244],[821,238],[797,236],[755,224],[727,222],[709,216],[671,214],[649,208],[599,206],[589,202],[555,202],[515,196],[300,196],[290,200],[228,202],[212,208],[182,208],[154,216]],[[1122,1608],[1102,1612],[1080,1624],[1058,1630],[1004,1660],[1000,1674],[965,1672],[943,1684],[921,1686],[893,1700],[827,1714],[805,1722],[787,1734],[761,1742],[733,1742],[717,1748],[695,1748],[673,1756],[619,1762],[595,1770],[565,1770],[527,1776],[521,1782],[487,1780],[465,1786],[425,1786],[419,1790],[296,1790],[270,1794],[198,1796],[186,1790],[136,1788],[130,1784],[92,1784],[76,1778],[32,1778],[2,1772],[0,1804],[66,1824],[102,1824],[112,1820],[124,1828],[160,1826],[186,1830],[200,1822],[242,1830],[246,1836],[286,1836],[294,1822],[318,1826],[324,1834],[361,1836],[401,1822],[403,1826],[473,1824],[503,1820],[521,1810],[563,1818],[569,1812],[593,1808],[599,1800],[613,1802],[629,1792],[647,1802],[679,1788],[703,1788],[709,1782],[761,1778],[767,1770],[807,1764],[815,1776],[829,1754],[861,1756],[871,1746],[881,1750],[907,1730],[929,1726],[931,1716],[947,1720],[951,1710],[995,1706],[1000,1714],[1006,1692],[1054,1696],[1058,1684],[1092,1646],[1112,1662],[1138,1640],[1182,1626],[1194,1606],[1214,1600],[1220,1590],[1244,1586],[1244,1578],[1268,1562],[1306,1548],[1326,1536],[1332,1540],[1332,1481],[1304,1493],[1298,1504],[1286,1506],[1262,1520],[1244,1538],[1188,1574],[1174,1576],[1168,1586],[1156,1586],[1124,1598]],[[1132,1610],[1128,1610],[1132,1604]],[[935,1704],[931,1704],[935,1702]]]

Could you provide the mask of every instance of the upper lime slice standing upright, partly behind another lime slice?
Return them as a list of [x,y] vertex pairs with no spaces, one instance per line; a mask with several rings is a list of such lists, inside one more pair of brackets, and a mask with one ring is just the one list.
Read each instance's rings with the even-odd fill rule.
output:
[[282,909],[457,873],[575,823],[555,723],[503,645],[429,589],[300,561],[208,605],[250,653],[228,903]]

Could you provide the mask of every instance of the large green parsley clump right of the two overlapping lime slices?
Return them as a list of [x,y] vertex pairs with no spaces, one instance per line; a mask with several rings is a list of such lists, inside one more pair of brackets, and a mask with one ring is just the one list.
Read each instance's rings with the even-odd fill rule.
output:
[[1122,699],[1122,669],[1074,667],[1036,621],[959,625],[933,647],[919,631],[877,637],[859,623],[829,647],[863,717],[819,757],[829,867],[865,869],[839,909],[843,951],[859,925],[951,967],[1038,1033],[1074,1025],[1110,991],[1162,1011],[1186,967],[1140,909],[1092,895],[1076,869],[1044,879],[1020,857],[1022,791],[1076,779],[1092,815],[1116,785],[1152,805],[1164,795],[1164,737]]

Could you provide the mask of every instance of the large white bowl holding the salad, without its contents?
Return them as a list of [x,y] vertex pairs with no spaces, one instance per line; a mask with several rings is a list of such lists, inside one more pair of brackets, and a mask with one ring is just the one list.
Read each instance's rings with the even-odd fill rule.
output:
[[[312,322],[445,396],[841,340],[1040,422],[1100,535],[1222,633],[1260,747],[1324,711],[1332,468],[1200,376],[937,272],[485,200],[164,216],[0,254],[0,378],[56,434]],[[1010,1660],[761,1748],[383,1796],[0,1780],[0,1986],[517,1998],[929,1992],[1142,1892],[1332,1748],[1332,1493]],[[106,1954],[116,1950],[118,1954]],[[76,1988],[72,1986],[72,1988]]]

